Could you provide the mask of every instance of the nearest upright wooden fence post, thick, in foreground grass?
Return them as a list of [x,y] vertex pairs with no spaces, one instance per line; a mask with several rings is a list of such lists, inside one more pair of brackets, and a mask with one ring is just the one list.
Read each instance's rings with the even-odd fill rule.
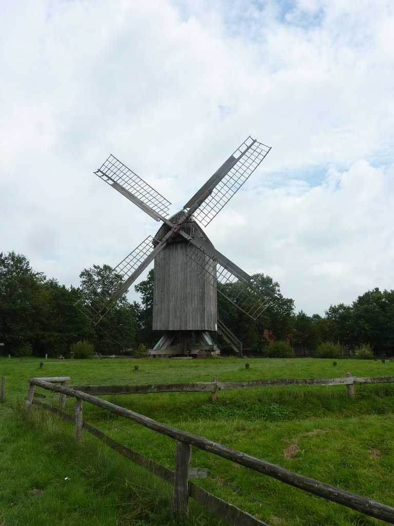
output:
[[192,447],[186,442],[177,442],[174,463],[174,508],[179,514],[189,512],[189,463]]

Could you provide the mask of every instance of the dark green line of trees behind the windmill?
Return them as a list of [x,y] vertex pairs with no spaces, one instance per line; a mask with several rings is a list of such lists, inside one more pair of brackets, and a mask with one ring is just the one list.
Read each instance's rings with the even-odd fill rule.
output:
[[[98,325],[75,304],[82,297],[94,302],[100,282],[108,283],[110,277],[116,289],[122,277],[108,265],[83,269],[79,277],[79,287],[66,287],[34,270],[24,255],[0,252],[0,343],[4,343],[0,351],[14,356],[69,356],[71,346],[86,340],[103,354],[143,354],[158,341],[160,333],[152,330],[153,270],[134,287],[141,303],[123,295]],[[349,353],[362,345],[378,355],[392,353],[394,290],[375,288],[351,305],[331,305],[324,316],[308,316],[302,310],[295,312],[294,300],[284,297],[271,277],[256,274],[253,279],[255,287],[273,300],[257,320],[218,295],[219,317],[244,348],[264,352],[268,342],[286,341],[303,354],[332,342]],[[225,348],[218,338],[219,346]]]

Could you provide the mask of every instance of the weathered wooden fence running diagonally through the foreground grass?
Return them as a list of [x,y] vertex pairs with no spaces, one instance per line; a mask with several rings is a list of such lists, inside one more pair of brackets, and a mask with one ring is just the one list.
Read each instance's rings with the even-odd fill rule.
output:
[[[75,423],[77,442],[81,440],[82,429],[85,429],[87,432],[93,434],[98,439],[100,439],[103,443],[107,444],[110,448],[120,453],[123,457],[126,457],[127,459],[131,460],[136,464],[139,464],[140,466],[143,466],[151,473],[172,484],[174,487],[174,508],[180,514],[188,512],[188,503],[189,498],[191,497],[195,501],[199,502],[205,509],[214,513],[215,515],[217,515],[217,517],[226,520],[230,524],[242,524],[243,526],[268,526],[265,522],[256,519],[249,513],[246,513],[245,511],[235,507],[234,505],[215,497],[208,491],[205,491],[204,489],[200,488],[198,485],[189,480],[189,478],[193,477],[193,473],[191,473],[191,471],[189,470],[189,463],[191,458],[191,447],[194,446],[204,451],[216,454],[217,456],[222,457],[224,459],[240,464],[241,466],[244,466],[246,468],[250,468],[254,471],[263,473],[268,477],[272,477],[286,484],[292,485],[296,488],[300,488],[309,493],[318,495],[319,497],[323,497],[326,500],[343,504],[348,508],[357,510],[361,513],[369,515],[370,517],[381,519],[390,524],[394,524],[394,508],[388,505],[381,504],[375,500],[368,499],[367,497],[361,497],[360,495],[357,495],[355,493],[336,488],[335,486],[332,486],[330,484],[326,484],[315,479],[304,477],[298,473],[294,473],[292,471],[281,468],[280,466],[276,466],[276,464],[272,464],[271,462],[252,457],[241,451],[236,451],[234,449],[222,446],[222,444],[213,442],[212,440],[208,440],[206,438],[196,436],[192,433],[173,428],[171,426],[168,426],[167,424],[157,422],[155,420],[152,420],[151,418],[143,416],[142,414],[136,413],[121,406],[117,406],[116,404],[108,402],[106,400],[101,400],[100,398],[89,395],[88,393],[83,392],[81,390],[67,387],[66,383],[68,381],[70,381],[70,378],[68,377],[31,378],[29,380],[26,408],[29,410],[30,407],[32,407],[32,404],[35,404],[37,406],[42,407],[43,409],[58,414],[58,416],[60,416],[61,418]],[[267,382],[267,380],[262,381]],[[392,381],[394,381],[394,379]],[[57,386],[55,385],[55,383],[61,383],[62,385]],[[295,385],[310,384],[297,383]],[[329,384],[325,383],[317,385]],[[348,385],[350,385],[350,383]],[[60,393],[61,404],[64,403],[64,397],[74,397],[74,417],[61,409],[51,407],[48,404],[35,400],[35,395],[39,394],[35,393],[35,386]],[[262,386],[259,385],[258,387]],[[164,466],[161,466],[161,464],[154,462],[153,460],[141,455],[140,453],[130,450],[126,446],[123,446],[119,442],[116,442],[115,440],[106,436],[98,429],[90,426],[90,424],[88,424],[87,422],[84,422],[82,418],[82,401],[89,402],[95,406],[106,409],[112,413],[118,414],[118,416],[132,420],[133,422],[137,422],[142,426],[147,427],[148,429],[164,434],[165,436],[171,437],[174,440],[176,440],[177,447],[175,450],[174,471]],[[203,473],[204,470],[200,471]]]

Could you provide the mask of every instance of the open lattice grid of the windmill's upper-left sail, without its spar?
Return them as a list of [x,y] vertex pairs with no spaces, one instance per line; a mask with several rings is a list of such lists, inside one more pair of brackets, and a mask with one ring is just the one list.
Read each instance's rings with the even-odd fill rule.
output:
[[108,157],[95,174],[109,185],[117,183],[158,214],[168,216],[170,201],[113,155]]

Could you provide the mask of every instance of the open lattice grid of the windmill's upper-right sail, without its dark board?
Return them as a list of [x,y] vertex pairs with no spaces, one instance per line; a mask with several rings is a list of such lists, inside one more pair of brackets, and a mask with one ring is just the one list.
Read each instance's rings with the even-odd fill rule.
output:
[[233,153],[234,159],[241,156],[240,159],[194,212],[194,219],[203,226],[209,225],[212,219],[253,174],[270,149],[270,146],[258,143],[252,137],[248,137]]

